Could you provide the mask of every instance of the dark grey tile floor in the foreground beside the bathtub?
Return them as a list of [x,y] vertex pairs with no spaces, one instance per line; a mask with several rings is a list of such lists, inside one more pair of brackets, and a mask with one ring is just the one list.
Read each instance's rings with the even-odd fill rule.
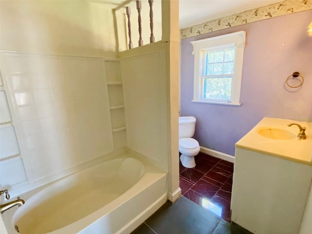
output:
[[132,234],[251,234],[228,223],[184,196],[167,201]]

